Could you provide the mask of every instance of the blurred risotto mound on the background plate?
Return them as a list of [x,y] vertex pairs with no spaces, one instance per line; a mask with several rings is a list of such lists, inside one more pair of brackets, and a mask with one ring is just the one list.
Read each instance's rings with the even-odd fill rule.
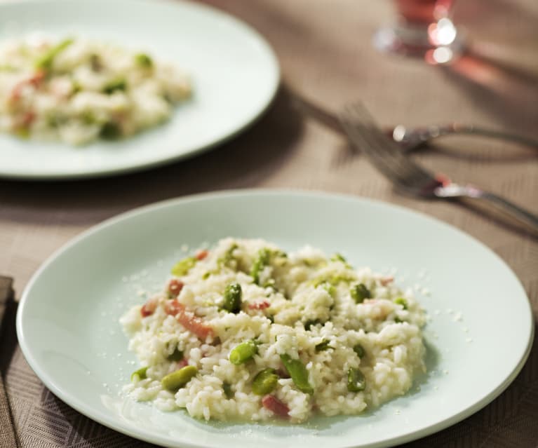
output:
[[170,118],[188,77],[147,53],[41,36],[0,44],[0,131],[72,145],[117,139]]

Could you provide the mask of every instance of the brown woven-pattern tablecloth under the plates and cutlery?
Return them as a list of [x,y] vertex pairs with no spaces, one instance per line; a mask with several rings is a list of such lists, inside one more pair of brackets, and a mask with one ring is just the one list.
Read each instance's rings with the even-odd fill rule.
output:
[[[189,161],[83,182],[1,181],[0,273],[15,278],[18,294],[62,243],[119,212],[201,191],[291,187],[377,198],[459,227],[511,266],[538,315],[536,239],[462,205],[399,196],[365,158],[349,151],[342,135],[291,105],[297,95],[332,110],[362,99],[386,125],[457,119],[538,137],[536,0],[460,1],[455,20],[466,27],[472,54],[451,68],[382,55],[372,48],[372,33],[393,17],[390,1],[212,3],[250,22],[269,39],[281,62],[285,88],[252,128]],[[415,157],[538,213],[535,151],[506,142],[452,138]],[[7,323],[0,367],[22,447],[147,446],[93,423],[43,388],[16,344],[13,315]],[[0,424],[4,427],[6,421]],[[407,446],[538,447],[538,345],[497,400]]]

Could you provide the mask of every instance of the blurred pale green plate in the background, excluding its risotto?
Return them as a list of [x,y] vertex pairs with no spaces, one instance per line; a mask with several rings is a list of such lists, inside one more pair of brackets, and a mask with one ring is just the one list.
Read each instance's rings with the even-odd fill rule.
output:
[[126,140],[78,148],[0,134],[0,177],[97,177],[193,156],[253,123],[278,88],[278,62],[267,41],[245,23],[194,2],[0,1],[0,41],[32,32],[147,51],[184,69],[194,94],[170,121]]

